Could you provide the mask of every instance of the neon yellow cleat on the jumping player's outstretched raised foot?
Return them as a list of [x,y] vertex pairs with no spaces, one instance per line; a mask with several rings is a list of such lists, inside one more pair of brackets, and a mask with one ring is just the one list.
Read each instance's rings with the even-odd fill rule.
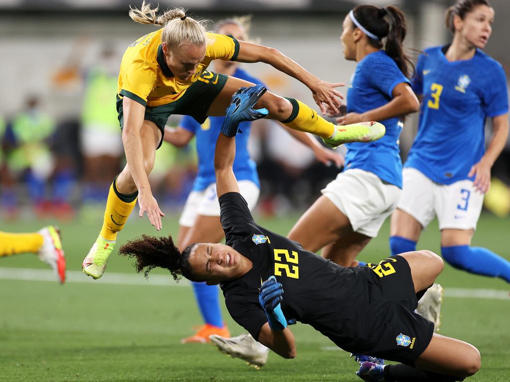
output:
[[385,133],[385,126],[374,121],[353,123],[351,125],[336,125],[333,136],[324,138],[323,141],[329,147],[337,147],[344,143],[377,141]]

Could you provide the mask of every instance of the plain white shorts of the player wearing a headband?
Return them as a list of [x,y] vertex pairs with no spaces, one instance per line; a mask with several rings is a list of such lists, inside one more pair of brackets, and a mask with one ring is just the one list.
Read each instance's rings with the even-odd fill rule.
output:
[[400,191],[371,172],[352,169],[338,174],[321,192],[348,217],[353,231],[375,237],[395,210]]

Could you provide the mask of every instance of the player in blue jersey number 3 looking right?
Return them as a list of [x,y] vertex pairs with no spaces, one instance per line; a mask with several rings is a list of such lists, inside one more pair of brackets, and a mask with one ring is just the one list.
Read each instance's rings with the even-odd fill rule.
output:
[[[508,95],[501,65],[481,49],[492,32],[486,0],[458,0],[446,24],[453,41],[419,57],[413,90],[423,97],[420,124],[403,170],[403,191],[392,216],[392,254],[413,251],[434,215],[441,252],[453,267],[510,282],[510,262],[471,247],[491,167],[508,137]],[[484,125],[493,135],[485,150]]]

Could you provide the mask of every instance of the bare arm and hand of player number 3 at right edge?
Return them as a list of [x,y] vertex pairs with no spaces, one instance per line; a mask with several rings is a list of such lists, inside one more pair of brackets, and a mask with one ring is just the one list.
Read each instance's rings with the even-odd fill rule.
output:
[[508,113],[492,119],[492,139],[489,147],[478,163],[471,168],[469,176],[475,175],[474,186],[481,193],[489,191],[491,169],[508,139]]

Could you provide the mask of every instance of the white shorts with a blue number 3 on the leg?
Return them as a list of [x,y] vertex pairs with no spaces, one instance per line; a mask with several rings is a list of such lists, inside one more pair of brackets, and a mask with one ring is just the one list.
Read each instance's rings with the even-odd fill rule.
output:
[[409,213],[425,228],[438,216],[439,229],[476,229],[483,204],[483,194],[473,181],[452,184],[435,183],[420,171],[404,168],[403,189],[397,208]]

